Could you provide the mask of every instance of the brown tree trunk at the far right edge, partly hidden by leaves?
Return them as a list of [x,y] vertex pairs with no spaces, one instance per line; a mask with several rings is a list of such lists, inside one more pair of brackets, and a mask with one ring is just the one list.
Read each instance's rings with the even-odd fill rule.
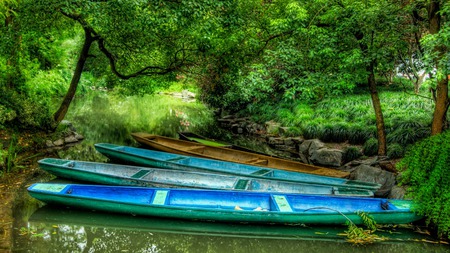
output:
[[[428,18],[430,22],[430,34],[438,34],[441,29],[441,15],[439,14],[440,6],[439,1],[432,0],[428,8]],[[436,69],[439,71],[439,65],[442,57],[446,53],[446,48],[444,45],[437,46],[434,48],[437,58]],[[448,76],[441,77],[437,75],[437,86],[436,86],[436,105],[433,112],[433,122],[431,123],[431,135],[437,135],[442,133],[445,126],[445,121],[447,120],[447,110],[449,106],[448,98]]]

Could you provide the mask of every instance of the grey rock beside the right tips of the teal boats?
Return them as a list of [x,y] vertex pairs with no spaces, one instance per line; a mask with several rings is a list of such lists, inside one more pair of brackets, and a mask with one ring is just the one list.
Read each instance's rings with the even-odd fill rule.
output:
[[375,197],[388,196],[395,185],[394,173],[365,164],[356,167],[350,174],[350,179],[381,184],[380,189],[375,192]]

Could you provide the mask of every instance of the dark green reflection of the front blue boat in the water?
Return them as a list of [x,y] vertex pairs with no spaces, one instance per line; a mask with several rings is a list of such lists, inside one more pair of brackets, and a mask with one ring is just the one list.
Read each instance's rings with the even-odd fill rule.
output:
[[[244,238],[270,238],[270,239],[295,239],[339,241],[344,239],[342,226],[286,226],[286,225],[258,225],[224,222],[201,222],[180,219],[164,219],[154,217],[139,217],[132,215],[114,214],[105,215],[90,210],[76,210],[67,208],[54,208],[43,206],[36,210],[28,219],[32,224],[46,223],[50,227],[55,225],[77,225],[89,227],[111,228],[114,230],[125,229],[139,232],[161,232],[169,234],[189,234],[220,237],[244,237]],[[391,228],[383,232],[377,231],[385,241],[423,239],[423,235],[413,233],[407,228]],[[430,238],[428,238],[431,240]],[[342,245],[341,245],[342,246]]]

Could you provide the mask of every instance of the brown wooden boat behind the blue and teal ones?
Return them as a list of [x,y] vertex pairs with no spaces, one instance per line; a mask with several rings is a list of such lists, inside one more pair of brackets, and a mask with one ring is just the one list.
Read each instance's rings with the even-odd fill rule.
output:
[[147,133],[132,133],[133,138],[139,143],[152,149],[170,152],[180,155],[196,156],[209,159],[217,159],[228,162],[262,166],[273,169],[297,171],[330,177],[346,178],[349,172],[336,169],[318,167],[301,162],[264,156],[239,150],[212,147],[200,143],[192,143],[174,138],[152,135]]

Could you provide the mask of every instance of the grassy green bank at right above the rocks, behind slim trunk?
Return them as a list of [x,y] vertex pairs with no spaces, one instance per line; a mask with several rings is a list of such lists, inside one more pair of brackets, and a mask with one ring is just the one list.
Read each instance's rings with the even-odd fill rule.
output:
[[[380,92],[380,100],[388,144],[399,144],[404,148],[429,136],[434,108],[431,100],[396,91]],[[245,113],[259,123],[271,119],[282,126],[295,127],[306,139],[363,145],[377,137],[375,114],[368,93],[330,97],[313,105],[302,102],[253,105]],[[367,147],[369,153],[374,150],[372,142],[366,143],[370,144]],[[393,149],[390,153],[395,157],[404,153],[396,145],[390,147]]]

